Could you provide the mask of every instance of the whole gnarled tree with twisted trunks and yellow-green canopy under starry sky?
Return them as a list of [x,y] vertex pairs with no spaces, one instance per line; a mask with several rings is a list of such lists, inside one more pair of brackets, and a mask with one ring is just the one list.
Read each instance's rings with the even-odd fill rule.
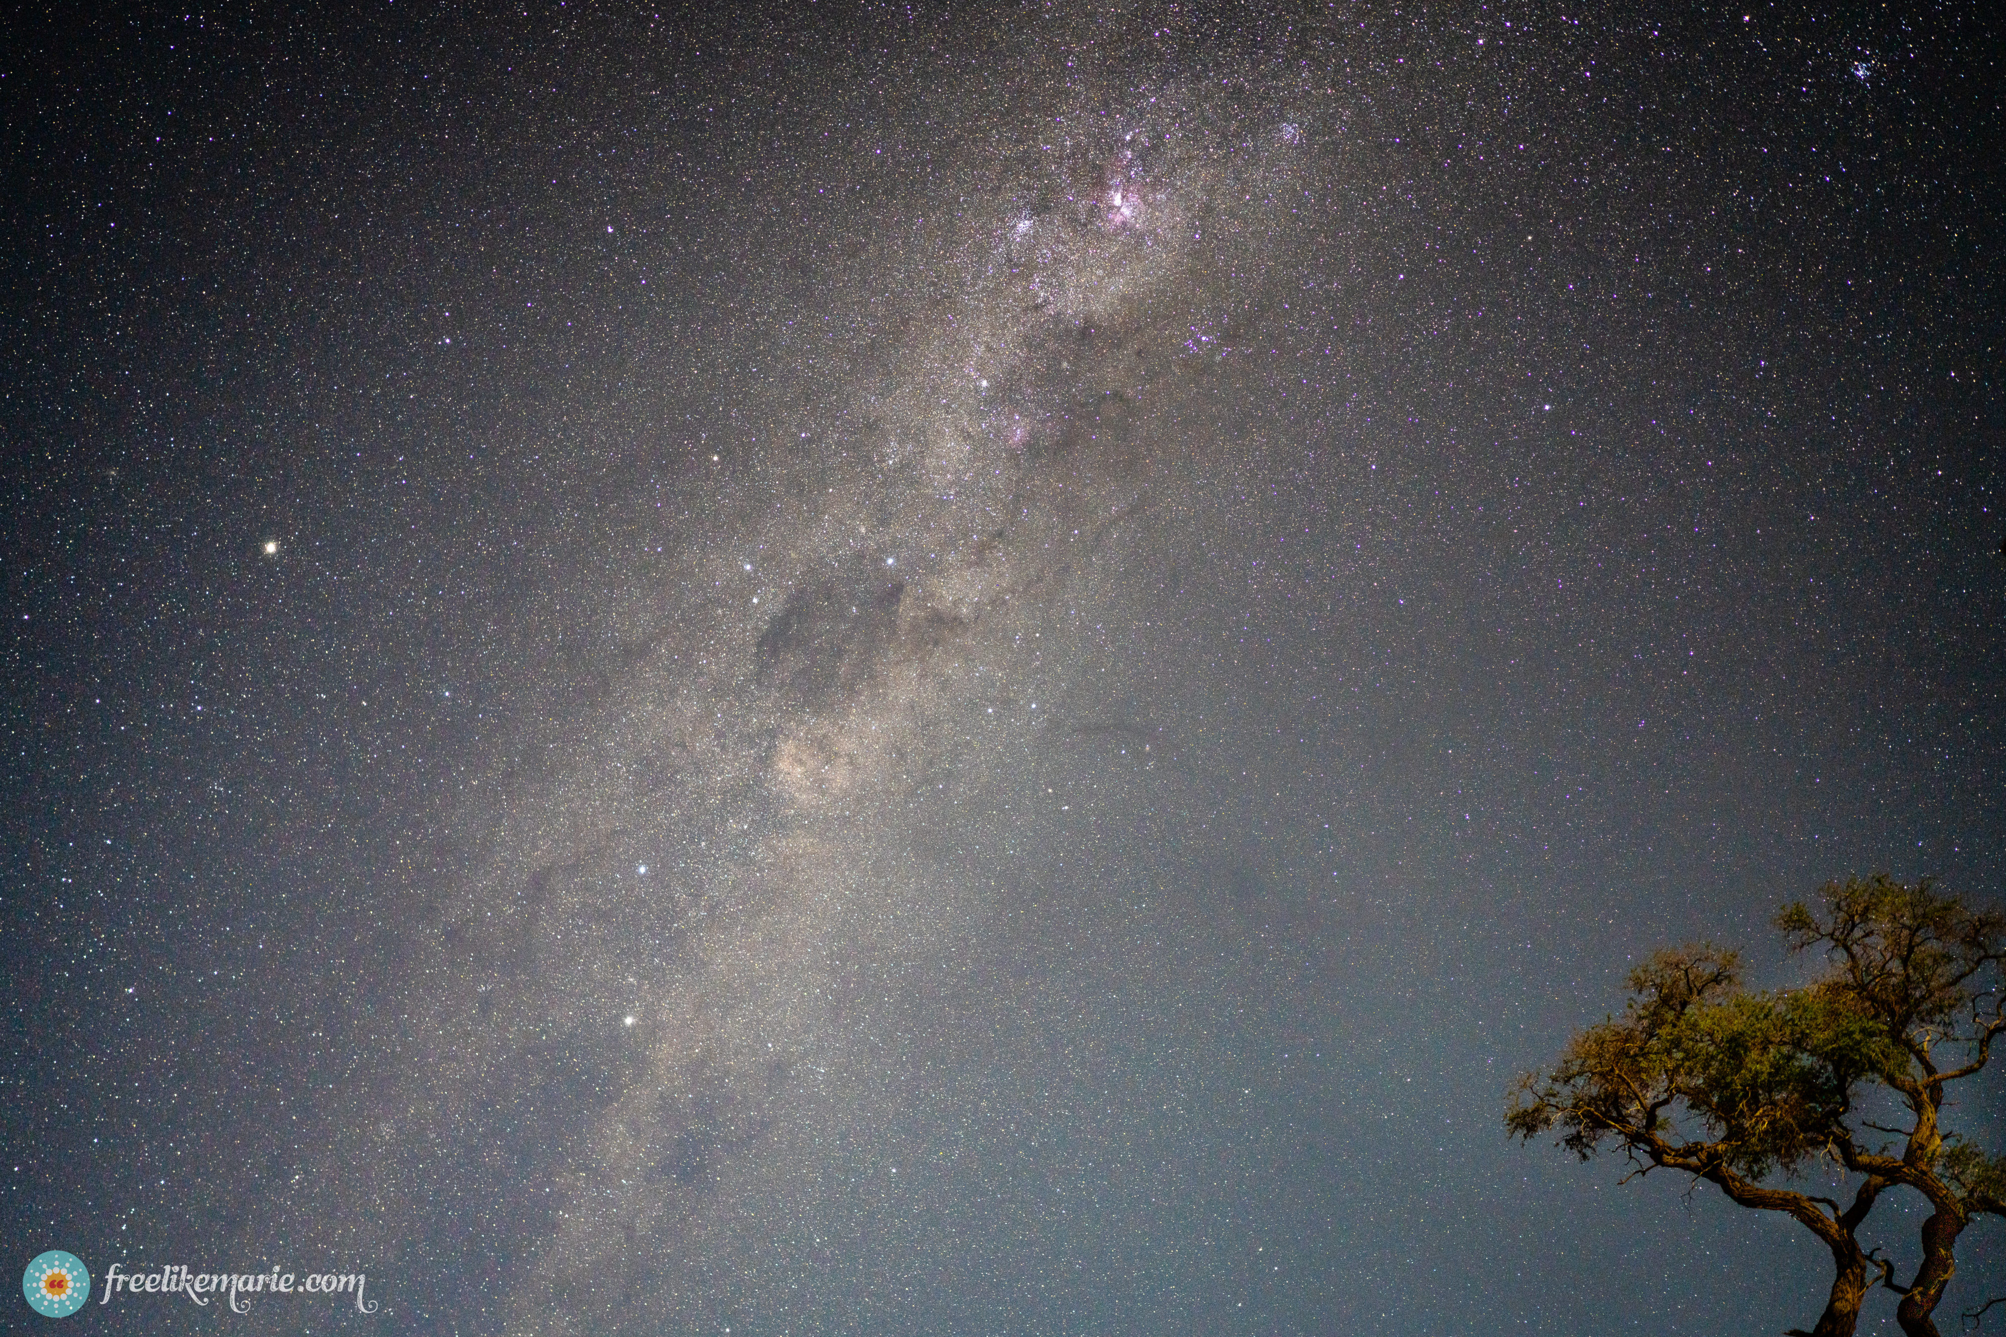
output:
[[[1561,1060],[1521,1078],[1504,1112],[1521,1139],[1559,1133],[1583,1161],[1619,1149],[1633,1173],[1679,1171],[1733,1203],[1785,1213],[1831,1253],[1825,1311],[1799,1337],[1848,1337],[1872,1285],[1902,1295],[1910,1337],[1956,1271],[1958,1235],[2006,1215],[2006,1157],[1942,1129],[1950,1082],[1986,1068],[2002,1018],[2006,916],[1940,896],[1928,880],[1833,882],[1815,908],[1775,918],[1793,952],[1819,950],[1805,986],[1755,992],[1735,952],[1687,946],[1629,976],[1623,1016],[1575,1034]],[[1892,1125],[1874,1110],[1902,1110]],[[1850,1201],[1809,1191],[1835,1173]],[[1882,1193],[1922,1193],[1922,1267],[1904,1285],[1860,1227]]]

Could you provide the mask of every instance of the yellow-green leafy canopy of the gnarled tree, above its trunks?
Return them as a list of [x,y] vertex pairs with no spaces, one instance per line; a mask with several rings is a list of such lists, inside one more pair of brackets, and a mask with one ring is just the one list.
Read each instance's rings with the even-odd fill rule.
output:
[[1866,1086],[1940,1084],[1946,1046],[1982,1064],[2006,916],[1882,874],[1827,884],[1819,900],[1775,918],[1793,950],[1823,948],[1815,982],[1755,992],[1735,952],[1657,952],[1631,972],[1623,1016],[1521,1080],[1507,1127],[1559,1131],[1583,1159],[1611,1139],[1661,1143],[1763,1179],[1850,1143]]

